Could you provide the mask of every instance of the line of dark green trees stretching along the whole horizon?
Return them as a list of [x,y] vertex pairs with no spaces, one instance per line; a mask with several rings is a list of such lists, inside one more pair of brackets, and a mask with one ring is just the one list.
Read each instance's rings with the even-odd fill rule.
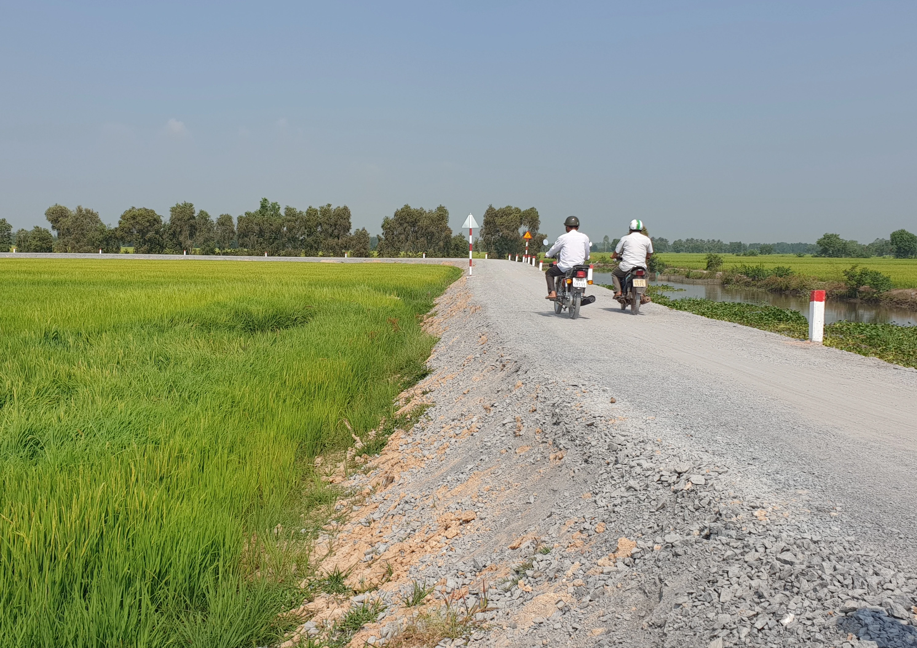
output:
[[[0,218],[0,249],[16,247],[20,252],[121,252],[132,248],[138,254],[224,254],[270,256],[352,257],[421,256],[464,257],[468,239],[464,232],[453,233],[449,212],[443,205],[435,209],[405,204],[385,216],[381,232],[370,236],[365,227],[353,229],[347,205],[309,206],[300,210],[262,198],[257,209],[238,217],[220,214],[213,218],[193,203],[176,203],[168,220],[148,207],[130,207],[108,226],[93,209],[78,205],[71,209],[53,204],[45,211],[48,228],[12,231]],[[538,229],[541,219],[535,207],[488,205],[475,246],[497,258],[523,254],[525,238],[531,233],[529,251],[542,251],[546,235]],[[645,232],[648,234],[647,232]],[[743,243],[720,239],[684,238],[671,243],[662,236],[651,236],[657,252],[694,252],[738,254],[812,254],[818,257],[917,257],[917,236],[904,229],[889,238],[877,238],[862,245],[827,233],[815,243]],[[618,238],[603,236],[592,251],[611,252]]]

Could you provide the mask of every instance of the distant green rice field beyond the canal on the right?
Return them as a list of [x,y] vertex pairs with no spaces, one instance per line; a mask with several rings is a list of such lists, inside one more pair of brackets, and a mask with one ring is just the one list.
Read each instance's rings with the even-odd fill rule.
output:
[[[610,255],[593,252],[591,258],[608,258]],[[704,269],[706,265],[705,254],[691,254],[687,252],[676,254],[674,252],[660,253],[666,264],[672,268]],[[757,266],[765,268],[786,266],[798,274],[815,277],[823,281],[844,281],[844,270],[853,265],[868,269],[875,269],[891,277],[895,288],[917,288],[917,258],[825,258],[825,257],[797,257],[794,254],[767,254],[757,257],[740,257],[735,254],[723,254],[723,268],[729,269],[737,265]]]

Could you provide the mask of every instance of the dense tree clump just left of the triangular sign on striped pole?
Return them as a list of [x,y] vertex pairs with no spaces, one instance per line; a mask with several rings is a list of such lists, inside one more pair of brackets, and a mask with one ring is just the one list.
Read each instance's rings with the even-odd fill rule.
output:
[[452,228],[449,211],[443,205],[424,209],[405,204],[392,217],[382,219],[382,234],[377,251],[380,257],[399,254],[447,257],[451,253]]

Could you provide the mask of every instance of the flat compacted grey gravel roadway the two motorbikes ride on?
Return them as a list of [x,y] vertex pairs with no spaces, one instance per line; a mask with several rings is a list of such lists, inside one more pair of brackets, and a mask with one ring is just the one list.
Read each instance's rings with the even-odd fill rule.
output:
[[540,272],[479,262],[470,288],[506,346],[541,370],[597,379],[692,445],[771,488],[840,506],[851,533],[917,561],[917,370],[612,292],[555,315]]

